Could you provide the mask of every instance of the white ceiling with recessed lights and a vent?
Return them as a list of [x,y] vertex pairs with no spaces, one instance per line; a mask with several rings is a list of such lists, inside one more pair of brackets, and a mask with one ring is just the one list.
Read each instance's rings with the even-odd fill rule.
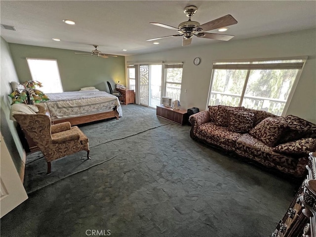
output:
[[[178,33],[149,22],[178,27],[188,20],[183,12],[188,5],[198,7],[192,20],[200,24],[231,14],[238,23],[224,34],[235,35],[232,40],[316,28],[315,0],[1,0],[0,23],[16,31],[1,28],[0,35],[7,42],[80,51],[91,51],[91,45],[98,44],[103,53],[125,56],[162,51],[181,47],[182,37],[157,40],[160,44],[154,45],[146,40]],[[194,37],[186,47],[215,42],[220,41]]]

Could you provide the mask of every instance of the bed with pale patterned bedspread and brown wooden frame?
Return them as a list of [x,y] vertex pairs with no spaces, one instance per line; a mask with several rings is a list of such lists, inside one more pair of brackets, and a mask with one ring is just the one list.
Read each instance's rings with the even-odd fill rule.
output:
[[53,123],[69,121],[72,125],[122,116],[118,97],[98,89],[47,93],[41,102]]

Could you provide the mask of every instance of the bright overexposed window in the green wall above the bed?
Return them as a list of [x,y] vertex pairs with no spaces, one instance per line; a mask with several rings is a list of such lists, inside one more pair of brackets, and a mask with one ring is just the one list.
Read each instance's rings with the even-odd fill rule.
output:
[[42,87],[40,90],[44,93],[59,93],[63,92],[61,85],[57,60],[55,59],[26,59],[30,68],[33,80],[40,81]]

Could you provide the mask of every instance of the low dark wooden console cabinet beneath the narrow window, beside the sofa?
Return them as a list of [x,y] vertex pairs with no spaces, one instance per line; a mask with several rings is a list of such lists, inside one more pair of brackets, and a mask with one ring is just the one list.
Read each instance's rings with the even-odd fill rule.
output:
[[157,116],[183,125],[188,120],[188,111],[181,109],[173,110],[172,108],[165,107],[164,105],[157,105]]

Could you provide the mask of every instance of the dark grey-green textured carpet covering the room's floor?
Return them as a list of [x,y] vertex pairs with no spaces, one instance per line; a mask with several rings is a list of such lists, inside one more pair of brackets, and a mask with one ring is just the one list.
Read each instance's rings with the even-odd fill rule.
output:
[[112,159],[31,193],[1,219],[1,236],[271,236],[294,197],[290,181],[197,143],[155,110],[122,109],[126,119],[81,126],[91,158]]

